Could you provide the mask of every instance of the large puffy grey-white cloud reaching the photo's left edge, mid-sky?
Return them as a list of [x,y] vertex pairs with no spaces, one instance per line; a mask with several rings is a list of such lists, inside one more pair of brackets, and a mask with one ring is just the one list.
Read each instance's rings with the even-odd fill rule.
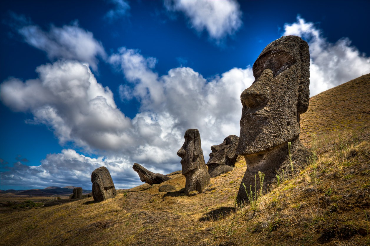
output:
[[53,129],[61,144],[86,150],[117,150],[129,145],[131,120],[119,110],[86,64],[60,61],[38,67],[38,79],[10,78],[0,85],[1,101],[14,111],[30,111],[34,123]]

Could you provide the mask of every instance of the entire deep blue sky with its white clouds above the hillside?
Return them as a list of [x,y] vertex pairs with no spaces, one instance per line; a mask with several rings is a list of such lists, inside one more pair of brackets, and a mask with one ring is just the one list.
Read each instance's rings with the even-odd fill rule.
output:
[[310,95],[370,73],[369,1],[7,1],[0,189],[118,189],[181,169],[186,129],[239,135],[251,66],[282,35],[310,46]]

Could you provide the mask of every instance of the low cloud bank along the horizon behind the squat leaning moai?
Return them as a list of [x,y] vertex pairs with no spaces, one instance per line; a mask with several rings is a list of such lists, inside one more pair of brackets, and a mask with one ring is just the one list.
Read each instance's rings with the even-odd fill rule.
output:
[[[1,172],[2,185],[23,185],[43,188],[67,185],[91,189],[91,173],[101,166],[110,170],[116,189],[127,189],[140,185],[132,165],[122,157],[91,158],[78,154],[73,149],[63,149],[61,153],[48,154],[40,166],[27,166],[20,162]],[[122,175],[125,170],[125,176]]]

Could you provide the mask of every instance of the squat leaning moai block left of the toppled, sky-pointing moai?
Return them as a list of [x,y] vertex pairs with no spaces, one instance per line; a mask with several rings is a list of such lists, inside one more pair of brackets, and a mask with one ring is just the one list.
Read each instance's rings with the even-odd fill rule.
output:
[[99,167],[91,173],[92,197],[101,202],[117,195],[114,183],[107,167]]

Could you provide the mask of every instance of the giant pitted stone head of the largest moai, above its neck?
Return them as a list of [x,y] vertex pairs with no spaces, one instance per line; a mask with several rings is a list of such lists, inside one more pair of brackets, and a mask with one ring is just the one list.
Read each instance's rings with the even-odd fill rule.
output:
[[240,95],[242,118],[236,153],[262,153],[300,133],[299,116],[309,103],[309,50],[297,36],[266,46],[253,64],[255,81]]

